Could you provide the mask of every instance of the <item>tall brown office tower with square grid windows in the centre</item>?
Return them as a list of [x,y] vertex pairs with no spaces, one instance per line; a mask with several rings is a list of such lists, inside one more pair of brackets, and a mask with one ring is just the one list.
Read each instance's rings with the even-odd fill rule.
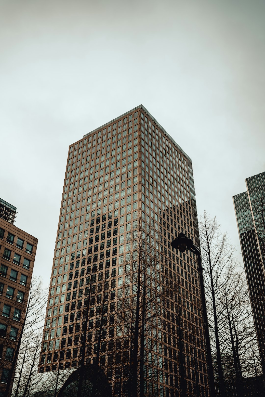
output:
[[[159,291],[166,291],[139,358],[144,394],[178,396],[186,389],[188,396],[207,396],[197,264],[190,251],[170,245],[179,232],[199,245],[192,163],[143,105],[69,146],[39,371],[78,367],[85,349],[86,362],[104,369],[112,394],[126,395],[132,349],[119,302],[128,296],[133,304],[137,296],[129,277],[135,262],[125,263],[139,248],[131,244],[137,225],[148,239],[143,266],[158,258]],[[151,295],[150,287],[145,310]]]

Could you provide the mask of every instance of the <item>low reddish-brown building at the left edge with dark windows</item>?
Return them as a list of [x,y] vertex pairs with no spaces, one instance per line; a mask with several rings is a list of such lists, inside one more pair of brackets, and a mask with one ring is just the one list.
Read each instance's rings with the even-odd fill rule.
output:
[[38,243],[14,225],[15,218],[16,208],[0,198],[1,393],[6,389],[21,334]]

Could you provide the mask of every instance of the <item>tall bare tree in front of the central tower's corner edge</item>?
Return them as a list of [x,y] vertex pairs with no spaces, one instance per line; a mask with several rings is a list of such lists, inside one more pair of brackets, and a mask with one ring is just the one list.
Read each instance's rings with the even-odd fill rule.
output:
[[126,385],[123,391],[141,397],[152,394],[157,384],[157,356],[152,350],[161,341],[165,290],[159,266],[159,235],[145,224],[140,213],[126,234],[125,247],[118,278],[116,338],[124,341],[118,368]]

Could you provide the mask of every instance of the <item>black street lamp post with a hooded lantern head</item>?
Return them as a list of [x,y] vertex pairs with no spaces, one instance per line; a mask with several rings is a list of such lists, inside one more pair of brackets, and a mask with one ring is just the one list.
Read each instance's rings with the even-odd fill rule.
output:
[[199,279],[201,286],[201,304],[203,309],[203,325],[204,325],[205,342],[206,342],[206,350],[207,350],[208,371],[209,371],[209,380],[210,380],[210,389],[211,389],[210,391],[211,391],[211,397],[216,397],[209,325],[208,325],[207,310],[206,310],[205,289],[203,283],[203,267],[201,266],[201,251],[193,243],[193,241],[189,239],[184,233],[179,233],[178,237],[173,241],[171,241],[171,246],[173,248],[178,249],[180,252],[185,252],[186,249],[189,249],[191,252],[194,252],[194,254],[197,255],[197,260],[199,265],[197,270],[199,272]]

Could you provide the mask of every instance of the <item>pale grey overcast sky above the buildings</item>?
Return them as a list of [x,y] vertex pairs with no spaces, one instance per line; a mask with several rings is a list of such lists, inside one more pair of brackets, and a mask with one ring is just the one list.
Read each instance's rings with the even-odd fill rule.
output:
[[198,214],[265,171],[264,0],[0,0],[0,197],[48,283],[68,146],[143,104],[191,157]]

